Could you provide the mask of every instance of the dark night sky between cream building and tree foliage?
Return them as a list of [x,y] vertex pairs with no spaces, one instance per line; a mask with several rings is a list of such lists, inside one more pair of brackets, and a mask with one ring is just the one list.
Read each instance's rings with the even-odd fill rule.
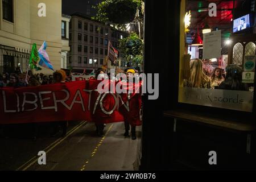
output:
[[[94,15],[95,10],[92,5],[96,5],[101,0],[62,0],[62,13],[71,15],[79,12],[82,14]],[[88,9],[88,7],[90,7]]]

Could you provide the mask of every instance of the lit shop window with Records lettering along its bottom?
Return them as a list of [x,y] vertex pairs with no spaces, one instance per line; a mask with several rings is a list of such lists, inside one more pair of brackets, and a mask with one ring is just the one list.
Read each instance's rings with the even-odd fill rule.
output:
[[[186,2],[181,5],[181,19],[193,6],[193,1]],[[226,2],[222,5],[220,19],[232,27],[231,5]],[[217,21],[198,19],[199,16],[200,12],[196,11],[188,18],[191,24],[187,29],[185,23],[180,27],[180,52],[184,55],[180,56],[179,103],[253,112],[256,40],[251,38],[246,43],[242,34],[233,35],[232,30],[227,32]],[[211,33],[203,34],[198,28],[205,25],[210,26]],[[226,35],[233,41],[241,36],[240,42],[232,47],[223,39]]]

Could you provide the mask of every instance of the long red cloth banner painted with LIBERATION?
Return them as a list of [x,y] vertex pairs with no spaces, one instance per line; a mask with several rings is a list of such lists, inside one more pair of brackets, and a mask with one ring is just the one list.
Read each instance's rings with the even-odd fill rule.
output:
[[[100,82],[89,80],[28,88],[1,88],[0,124],[78,120],[122,122],[123,112],[119,110],[123,110],[129,102],[141,102],[140,95],[135,94],[136,97],[124,102],[119,94],[98,93]],[[129,107],[138,108],[133,104]],[[140,111],[139,108],[135,110],[135,113]]]

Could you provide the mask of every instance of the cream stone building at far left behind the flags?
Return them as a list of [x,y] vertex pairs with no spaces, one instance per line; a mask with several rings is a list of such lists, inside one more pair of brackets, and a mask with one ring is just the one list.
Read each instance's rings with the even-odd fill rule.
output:
[[[45,15],[40,13],[45,12]],[[20,65],[27,71],[32,44],[47,42],[54,69],[61,68],[61,0],[0,1],[0,73],[13,72]],[[34,73],[52,74],[42,68]]]

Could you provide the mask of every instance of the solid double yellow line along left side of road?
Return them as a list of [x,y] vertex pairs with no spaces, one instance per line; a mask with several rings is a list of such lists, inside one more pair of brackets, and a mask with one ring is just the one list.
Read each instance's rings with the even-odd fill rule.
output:
[[[73,134],[75,131],[77,131],[78,129],[80,129],[81,126],[83,126],[85,123],[87,123],[86,121],[82,121],[81,123],[79,123],[79,125],[77,125],[76,127],[74,127],[72,130],[68,131],[66,137],[64,138],[59,138],[57,139],[55,142],[49,144],[49,146],[47,146],[46,148],[44,148],[43,151],[46,151],[46,154],[51,151],[53,148],[55,148],[58,144],[60,144],[61,142],[63,142],[65,139],[67,139],[71,134]],[[49,148],[49,149],[48,149]],[[31,162],[32,161],[32,162]],[[26,169],[28,169],[29,167],[31,167],[33,164],[35,164],[38,161],[38,156],[34,156],[33,158],[31,158],[30,160],[28,160],[26,163],[24,163],[22,166],[20,166],[18,169],[16,169],[16,171],[26,171]],[[25,167],[26,166],[26,167]]]

